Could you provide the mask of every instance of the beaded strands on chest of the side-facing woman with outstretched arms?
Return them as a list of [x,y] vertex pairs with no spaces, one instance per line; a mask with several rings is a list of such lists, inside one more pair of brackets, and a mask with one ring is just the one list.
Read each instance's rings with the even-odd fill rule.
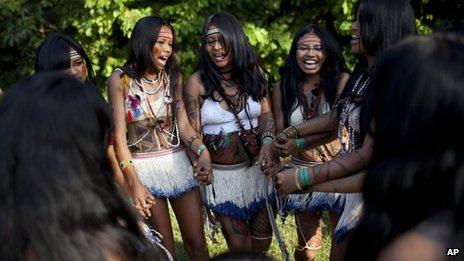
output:
[[[363,79],[364,78],[364,79]],[[356,135],[356,130],[353,128],[353,126],[350,126],[349,123],[349,118],[350,114],[354,110],[358,110],[359,113],[359,103],[362,101],[362,95],[364,91],[366,90],[367,86],[369,85],[371,81],[371,77],[369,75],[366,75],[364,77],[364,73],[361,73],[356,79],[356,82],[354,83],[353,89],[351,89],[350,95],[347,99],[342,101],[342,111],[340,114],[340,119],[338,121],[338,140],[340,141],[340,144],[342,146],[341,152],[342,153],[347,153],[349,151],[352,151],[355,149],[355,146],[358,142],[357,140],[357,135]],[[359,121],[359,115],[356,119]],[[348,129],[348,144],[343,140],[343,129],[344,127],[347,127]]]

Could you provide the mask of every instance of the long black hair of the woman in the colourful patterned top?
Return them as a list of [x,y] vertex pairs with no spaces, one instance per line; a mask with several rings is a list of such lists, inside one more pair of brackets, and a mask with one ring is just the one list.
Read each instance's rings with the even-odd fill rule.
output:
[[156,71],[151,50],[158,39],[162,26],[169,27],[173,36],[172,53],[166,62],[165,70],[171,80],[170,88],[174,95],[181,77],[181,70],[176,58],[176,34],[171,24],[163,18],[146,16],[137,21],[129,39],[127,61],[122,70],[135,79],[140,79],[148,71]]

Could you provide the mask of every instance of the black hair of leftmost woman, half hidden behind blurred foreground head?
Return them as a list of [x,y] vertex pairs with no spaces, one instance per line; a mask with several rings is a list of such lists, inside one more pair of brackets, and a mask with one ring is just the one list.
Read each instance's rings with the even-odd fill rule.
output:
[[54,33],[40,44],[35,56],[35,71],[46,72],[69,69],[71,66],[69,56],[71,49],[77,51],[84,59],[87,66],[88,78],[90,81],[93,81],[92,62],[84,51],[84,48],[79,42],[62,33]]

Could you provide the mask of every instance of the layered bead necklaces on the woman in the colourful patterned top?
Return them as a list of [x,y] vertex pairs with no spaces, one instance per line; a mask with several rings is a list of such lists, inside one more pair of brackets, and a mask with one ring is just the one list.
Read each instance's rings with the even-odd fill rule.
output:
[[[134,82],[141,90],[141,92],[138,94],[133,89]],[[144,83],[154,84],[156,87],[152,91],[147,91]],[[161,89],[163,89],[163,97],[161,98],[162,104],[159,106],[158,110],[155,112],[153,110],[153,106],[151,104],[149,97],[150,95],[154,95],[158,93]],[[161,132],[162,134],[161,137],[164,139],[166,144],[174,148],[178,147],[180,145],[180,136],[179,136],[179,125],[177,123],[177,118],[173,116],[174,127],[172,128],[171,131],[166,130],[164,126],[160,124],[160,121],[158,121],[158,117],[160,116],[161,110],[164,108],[165,111],[169,111],[169,106],[173,102],[172,96],[171,96],[171,90],[170,90],[170,79],[168,75],[166,74],[166,72],[164,71],[160,72],[158,74],[158,77],[155,80],[149,80],[145,77],[142,77],[140,81],[131,79],[129,91],[134,96],[139,95],[141,101],[145,103],[145,108],[144,108],[145,113],[151,116],[149,117],[151,118],[151,120],[148,124],[148,126],[151,127],[151,129],[145,132],[136,142],[132,144],[128,144],[128,146],[133,147],[139,144],[142,140],[144,140],[150,134],[150,132],[153,131],[153,134],[155,136],[155,139],[158,145],[158,149],[161,149],[159,138],[158,138],[158,135],[156,134],[156,130],[158,130]],[[166,138],[166,136],[168,137]],[[175,142],[173,142],[174,140]]]

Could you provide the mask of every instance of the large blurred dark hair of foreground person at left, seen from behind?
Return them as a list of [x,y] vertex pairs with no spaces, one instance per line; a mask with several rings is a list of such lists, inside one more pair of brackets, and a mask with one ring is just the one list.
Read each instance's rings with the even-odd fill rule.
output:
[[113,182],[108,106],[84,85],[63,73],[38,73],[0,102],[2,259],[155,253]]

